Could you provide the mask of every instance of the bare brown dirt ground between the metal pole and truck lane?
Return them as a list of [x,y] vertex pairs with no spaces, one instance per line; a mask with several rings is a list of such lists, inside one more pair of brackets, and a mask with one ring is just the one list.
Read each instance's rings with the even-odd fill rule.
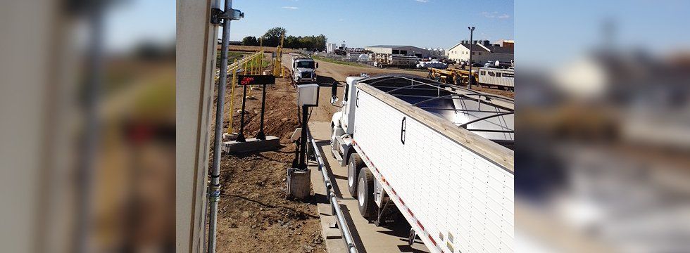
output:
[[[222,155],[218,252],[325,252],[315,200],[286,199],[285,178],[294,158],[294,144],[289,138],[299,123],[293,86],[287,79],[276,79],[276,82],[266,92],[264,131],[266,135],[280,138],[280,150]],[[247,89],[250,99],[246,103],[246,138],[256,136],[259,129],[261,87],[257,88]],[[237,132],[242,87],[235,88],[233,103],[233,129]],[[224,131],[229,126],[227,115],[230,111],[229,85],[225,96]],[[213,122],[211,127],[215,127]],[[212,161],[213,151],[209,167]]]

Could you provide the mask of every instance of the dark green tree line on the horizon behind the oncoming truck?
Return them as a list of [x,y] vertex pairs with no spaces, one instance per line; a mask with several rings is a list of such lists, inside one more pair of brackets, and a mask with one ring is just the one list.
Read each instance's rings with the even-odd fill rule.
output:
[[[273,27],[263,34],[263,46],[278,46],[280,45],[280,36],[286,32],[283,27]],[[259,39],[261,37],[247,36],[242,39],[244,46],[259,46]],[[306,48],[309,51],[325,51],[326,41],[328,39],[324,34],[299,36],[286,36],[283,41],[284,48]]]

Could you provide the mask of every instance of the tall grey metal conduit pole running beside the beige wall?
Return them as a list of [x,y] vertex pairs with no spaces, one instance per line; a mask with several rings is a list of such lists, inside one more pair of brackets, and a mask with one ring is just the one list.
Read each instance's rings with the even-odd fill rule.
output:
[[[232,0],[225,0],[226,13],[232,11]],[[213,171],[211,187],[208,188],[210,219],[208,220],[208,252],[215,252],[216,219],[218,219],[218,200],[220,200],[220,144],[222,142],[222,114],[225,104],[225,84],[227,83],[227,48],[230,46],[230,19],[223,20],[220,46],[220,79],[218,80],[218,98],[215,103],[215,143],[213,143]]]

